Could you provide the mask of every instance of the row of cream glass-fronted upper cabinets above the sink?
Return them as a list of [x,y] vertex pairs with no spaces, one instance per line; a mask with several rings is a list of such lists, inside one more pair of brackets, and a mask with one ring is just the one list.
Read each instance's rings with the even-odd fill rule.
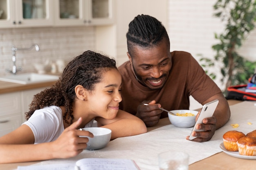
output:
[[114,23],[114,0],[0,0],[0,28]]

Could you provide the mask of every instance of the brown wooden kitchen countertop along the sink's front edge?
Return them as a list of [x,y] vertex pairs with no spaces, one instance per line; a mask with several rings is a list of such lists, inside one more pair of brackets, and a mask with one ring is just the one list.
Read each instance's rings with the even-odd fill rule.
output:
[[18,83],[9,83],[5,81],[0,81],[0,94],[4,93],[11,93],[11,92],[17,92],[22,90],[28,90],[28,89],[36,89],[40,87],[49,87],[51,85],[54,85],[56,81],[49,81],[44,83],[33,83],[33,84],[27,84],[22,85]]

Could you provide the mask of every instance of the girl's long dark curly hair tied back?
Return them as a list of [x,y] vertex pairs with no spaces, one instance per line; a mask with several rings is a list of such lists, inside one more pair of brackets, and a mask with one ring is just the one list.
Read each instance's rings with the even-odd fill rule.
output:
[[82,85],[89,91],[94,90],[95,84],[101,82],[103,73],[111,68],[117,69],[114,59],[92,51],[83,52],[67,64],[55,85],[34,95],[29,111],[26,112],[26,119],[28,120],[36,109],[51,105],[65,106],[63,119],[67,124],[72,124],[75,87]]

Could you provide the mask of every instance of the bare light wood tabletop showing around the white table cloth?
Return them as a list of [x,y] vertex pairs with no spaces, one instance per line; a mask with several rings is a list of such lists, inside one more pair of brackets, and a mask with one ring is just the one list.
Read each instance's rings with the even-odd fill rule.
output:
[[[238,100],[229,100],[229,105],[234,105],[240,101]],[[165,126],[170,124],[168,118],[161,119],[157,126],[148,128],[148,131],[152,131],[159,127]],[[198,153],[200,154],[200,153]],[[6,163],[0,164],[0,169],[3,170],[13,170],[16,169],[17,166],[28,166],[34,163],[39,163],[40,161],[34,162],[25,162],[25,163]],[[201,161],[195,162],[189,165],[189,170],[241,170],[241,169],[255,169],[256,161],[255,160],[248,160],[248,159],[239,159],[235,157],[231,157],[223,152],[217,153],[211,157],[203,159]]]

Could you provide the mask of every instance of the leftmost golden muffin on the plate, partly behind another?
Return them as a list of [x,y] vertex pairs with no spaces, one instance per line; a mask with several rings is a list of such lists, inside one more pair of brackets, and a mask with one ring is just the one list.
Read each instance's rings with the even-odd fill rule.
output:
[[237,141],[241,137],[245,137],[245,134],[243,132],[239,131],[227,131],[223,135],[223,144],[224,147],[232,152],[238,151]]

